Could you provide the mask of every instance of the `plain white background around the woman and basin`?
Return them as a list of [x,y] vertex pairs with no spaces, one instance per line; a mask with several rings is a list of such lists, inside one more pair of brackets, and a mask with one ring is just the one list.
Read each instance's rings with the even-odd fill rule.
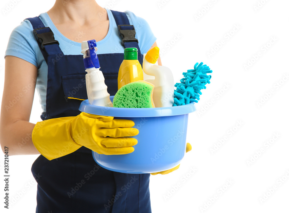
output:
[[[10,8],[13,2],[16,4]],[[185,155],[177,171],[151,176],[152,211],[288,212],[289,80],[284,75],[289,73],[289,2],[97,2],[113,10],[130,10],[148,21],[158,38],[158,46],[165,52],[161,55],[162,63],[171,68],[175,82],[182,78],[182,72],[192,69],[196,62],[204,62],[213,70],[211,84],[196,104],[198,112],[189,116],[187,142],[192,144],[192,151]],[[23,19],[49,10],[53,3],[1,0],[1,90],[3,55],[10,32]],[[210,6],[207,6],[209,3]],[[7,7],[10,11],[3,12]],[[275,38],[275,41],[271,38]],[[219,43],[222,40],[221,46]],[[273,44],[268,43],[270,41]],[[212,52],[212,48],[216,52]],[[258,52],[261,56],[254,60],[253,56]],[[252,63],[245,68],[248,60]],[[261,99],[263,103],[258,104]],[[40,121],[40,114],[36,94],[30,122]],[[242,125],[237,125],[238,122]],[[273,137],[274,134],[279,136]],[[222,144],[220,140],[224,137],[227,140]],[[270,140],[273,143],[265,145]],[[217,150],[212,153],[210,150],[214,149],[214,145],[219,147],[215,147]],[[256,155],[260,150],[263,151],[259,153],[260,156]],[[3,158],[1,153],[1,175],[4,174]],[[37,155],[10,157],[10,201],[17,201],[10,203],[10,209],[5,211],[34,212],[37,184],[30,169],[36,158]],[[250,160],[255,161],[248,165]],[[191,168],[196,170],[192,175]],[[283,180],[278,181],[280,178]],[[226,186],[228,180],[232,183]],[[176,185],[179,187],[174,187]],[[3,181],[0,186],[2,197]],[[269,189],[274,186],[275,190],[271,190],[271,193]],[[222,194],[220,188],[223,189]],[[21,190],[25,193],[21,194]],[[268,197],[264,197],[264,193]],[[260,198],[264,200],[261,202]],[[2,199],[0,203],[0,211],[4,212]]]

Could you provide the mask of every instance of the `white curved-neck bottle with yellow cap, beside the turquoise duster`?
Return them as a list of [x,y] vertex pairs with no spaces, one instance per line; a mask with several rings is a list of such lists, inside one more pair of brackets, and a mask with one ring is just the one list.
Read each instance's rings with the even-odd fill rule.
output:
[[[171,107],[174,103],[175,82],[172,71],[166,66],[155,64],[159,58],[160,49],[154,47],[145,55],[142,68],[145,74],[145,81],[150,82],[155,87],[153,89],[153,103],[155,107]],[[154,76],[155,79],[149,79]]]

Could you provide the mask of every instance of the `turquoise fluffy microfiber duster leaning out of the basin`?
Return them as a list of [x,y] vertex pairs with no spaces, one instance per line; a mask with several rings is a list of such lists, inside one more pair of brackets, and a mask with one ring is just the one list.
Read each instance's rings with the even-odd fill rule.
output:
[[196,63],[193,70],[188,70],[183,73],[184,78],[181,79],[181,83],[176,83],[177,88],[174,92],[175,98],[173,106],[180,106],[189,104],[192,102],[198,103],[200,100],[200,95],[202,95],[201,89],[206,88],[206,84],[210,84],[211,75],[207,73],[212,73],[210,67],[203,62]]

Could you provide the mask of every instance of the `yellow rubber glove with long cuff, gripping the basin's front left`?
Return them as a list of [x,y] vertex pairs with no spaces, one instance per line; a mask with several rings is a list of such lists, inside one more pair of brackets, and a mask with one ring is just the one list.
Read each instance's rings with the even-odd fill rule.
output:
[[[36,149],[48,160],[70,154],[81,146],[105,155],[134,151],[138,129],[134,122],[111,116],[81,112],[77,116],[52,118],[37,122],[32,131]],[[109,136],[109,137],[108,137]]]

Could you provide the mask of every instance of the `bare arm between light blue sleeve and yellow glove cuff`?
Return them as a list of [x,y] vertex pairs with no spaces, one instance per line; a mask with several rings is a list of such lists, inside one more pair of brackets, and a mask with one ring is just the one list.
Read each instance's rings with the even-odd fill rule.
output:
[[5,80],[1,103],[0,144],[9,155],[40,154],[32,142],[29,123],[37,78],[37,67],[14,56],[5,57]]

